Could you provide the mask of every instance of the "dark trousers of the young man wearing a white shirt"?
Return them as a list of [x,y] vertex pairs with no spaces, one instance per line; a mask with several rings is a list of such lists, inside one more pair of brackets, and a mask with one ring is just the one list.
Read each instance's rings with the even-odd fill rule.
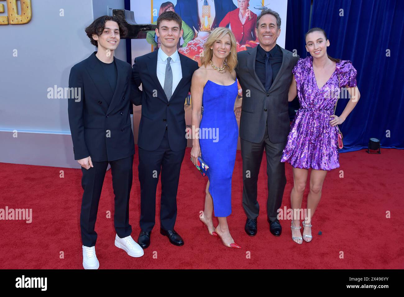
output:
[[177,190],[185,149],[173,152],[167,130],[157,150],[139,147],[140,227],[151,231],[156,217],[156,189],[161,172],[160,226],[173,230],[177,218]]

